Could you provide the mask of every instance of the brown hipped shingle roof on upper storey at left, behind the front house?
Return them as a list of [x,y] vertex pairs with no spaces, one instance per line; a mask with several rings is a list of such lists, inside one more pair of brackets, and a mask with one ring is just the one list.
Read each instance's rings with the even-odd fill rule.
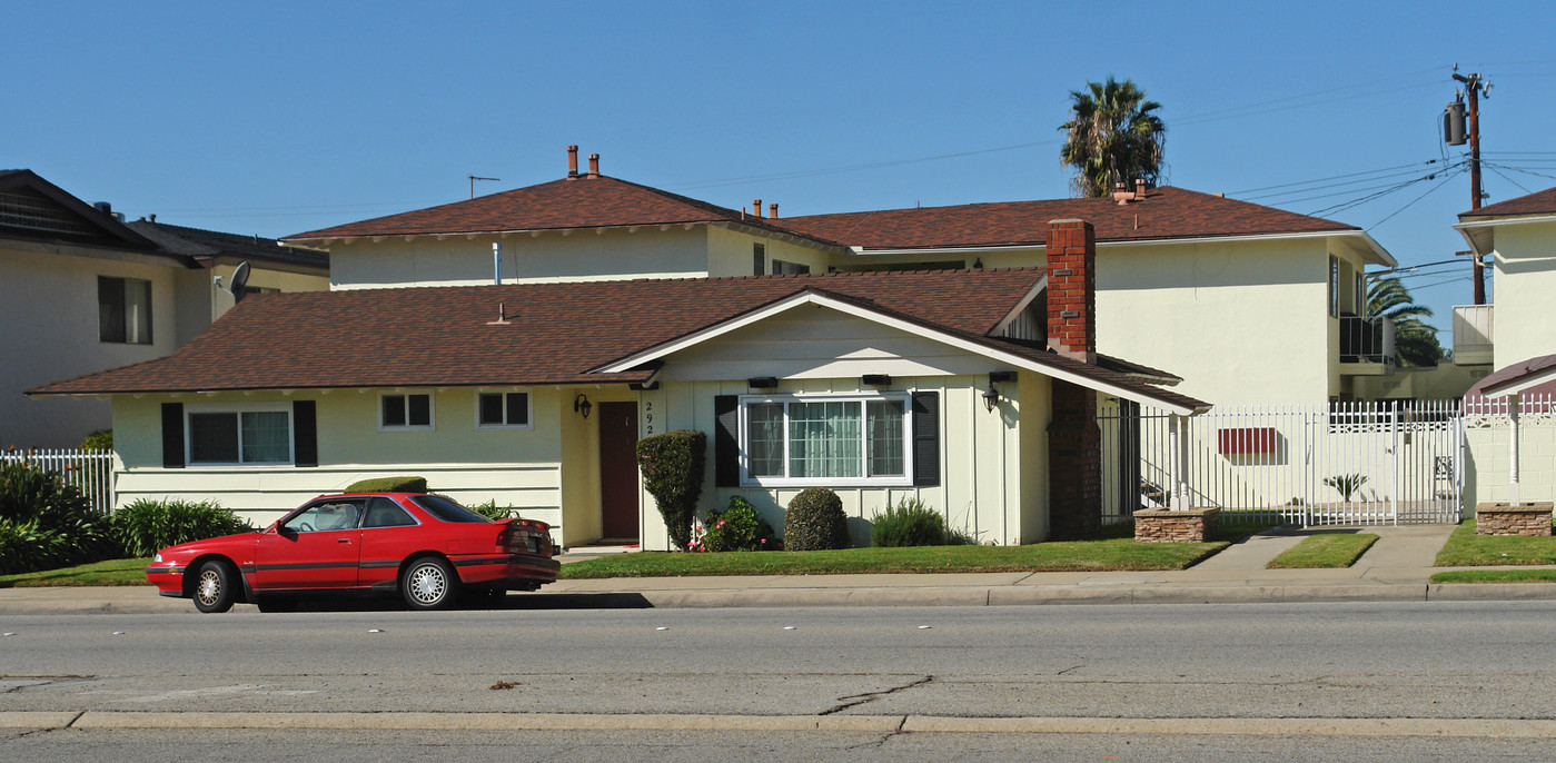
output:
[[780,230],[758,216],[688,196],[607,178],[565,178],[468,201],[419,209],[286,237],[485,234],[577,227],[744,223]]

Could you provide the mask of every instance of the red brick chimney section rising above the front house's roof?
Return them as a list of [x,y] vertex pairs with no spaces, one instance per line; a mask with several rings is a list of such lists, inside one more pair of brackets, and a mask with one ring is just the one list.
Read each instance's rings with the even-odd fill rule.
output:
[[1097,234],[1085,220],[1049,221],[1049,349],[1097,361]]

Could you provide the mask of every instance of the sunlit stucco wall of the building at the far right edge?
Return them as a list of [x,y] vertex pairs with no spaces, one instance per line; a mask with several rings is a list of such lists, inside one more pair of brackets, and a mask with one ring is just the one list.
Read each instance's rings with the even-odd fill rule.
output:
[[1556,223],[1497,227],[1494,367],[1556,353]]

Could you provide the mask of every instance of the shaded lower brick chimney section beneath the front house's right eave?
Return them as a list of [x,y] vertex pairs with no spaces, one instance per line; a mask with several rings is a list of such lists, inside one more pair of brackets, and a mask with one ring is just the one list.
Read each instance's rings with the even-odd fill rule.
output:
[[1102,529],[1102,431],[1097,392],[1053,380],[1049,424],[1049,537],[1075,540]]

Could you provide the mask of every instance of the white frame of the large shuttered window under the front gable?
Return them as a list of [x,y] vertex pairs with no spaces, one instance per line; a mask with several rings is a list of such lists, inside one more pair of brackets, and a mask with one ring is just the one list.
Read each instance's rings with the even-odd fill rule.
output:
[[[752,403],[823,403],[823,402],[857,402],[860,405],[859,427],[859,458],[860,473],[868,472],[870,459],[870,427],[865,406],[871,402],[902,403],[902,473],[887,476],[787,476],[789,472],[789,410],[784,408],[783,427],[783,469],[784,476],[752,476],[750,447],[747,438],[750,428],[747,410]],[[753,394],[739,396],[739,450],[741,450],[741,486],[744,487],[912,487],[913,484],[913,396],[902,392],[822,392],[822,394]]]

